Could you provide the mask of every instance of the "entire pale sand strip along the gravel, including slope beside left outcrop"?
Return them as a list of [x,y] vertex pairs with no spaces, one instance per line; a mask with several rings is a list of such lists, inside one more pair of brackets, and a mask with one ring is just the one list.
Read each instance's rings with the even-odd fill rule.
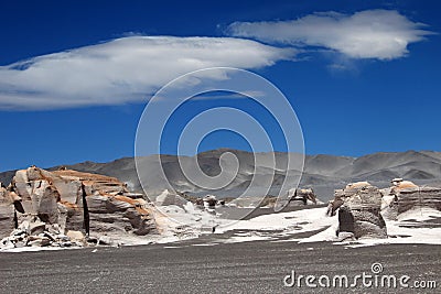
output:
[[[161,207],[168,215],[160,211],[154,211],[154,219],[160,230],[160,235],[135,236],[127,233],[108,235],[118,246],[139,246],[151,243],[172,243],[186,239],[197,238],[203,233],[212,233],[213,228],[216,228],[214,236],[219,236],[235,230],[233,237],[228,239],[212,240],[206,243],[197,243],[193,246],[216,246],[218,243],[237,243],[249,241],[270,242],[321,242],[330,241],[334,244],[345,247],[365,247],[387,243],[424,243],[424,244],[441,244],[441,228],[430,227],[428,220],[441,218],[441,211],[422,208],[413,209],[399,215],[397,220],[387,220],[387,239],[359,239],[356,241],[337,242],[338,238],[335,231],[338,228],[337,216],[326,216],[326,207],[301,209],[291,213],[280,213],[259,216],[249,220],[228,220],[218,218],[216,215],[204,210],[195,209],[192,204],[186,204],[184,207],[170,205]],[[421,226],[424,225],[424,226]],[[417,227],[412,227],[417,226]],[[439,225],[438,225],[439,226]],[[313,232],[322,230],[308,238],[299,238],[297,233]],[[281,237],[292,238],[278,240]],[[89,249],[99,247],[90,246]],[[179,246],[169,246],[164,248],[180,248]],[[78,249],[72,248],[40,248],[40,247],[23,247],[13,249],[3,249],[0,252],[24,252],[40,250],[61,250],[61,249]]]

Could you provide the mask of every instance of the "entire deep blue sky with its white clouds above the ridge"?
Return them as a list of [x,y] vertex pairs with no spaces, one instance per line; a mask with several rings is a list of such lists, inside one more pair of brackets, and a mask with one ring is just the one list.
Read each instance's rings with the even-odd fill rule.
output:
[[[440,151],[438,1],[209,2],[0,3],[0,171],[132,156],[152,92],[204,66],[273,83],[308,154]],[[192,109],[244,104],[227,100]],[[200,150],[220,146],[248,148],[219,132]]]

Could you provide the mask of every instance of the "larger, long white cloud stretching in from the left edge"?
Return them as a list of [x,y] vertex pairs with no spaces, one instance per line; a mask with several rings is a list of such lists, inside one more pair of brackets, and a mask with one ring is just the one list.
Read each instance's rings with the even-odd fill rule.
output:
[[0,66],[0,109],[144,101],[168,81],[192,70],[259,68],[294,55],[293,48],[234,37],[127,36]]

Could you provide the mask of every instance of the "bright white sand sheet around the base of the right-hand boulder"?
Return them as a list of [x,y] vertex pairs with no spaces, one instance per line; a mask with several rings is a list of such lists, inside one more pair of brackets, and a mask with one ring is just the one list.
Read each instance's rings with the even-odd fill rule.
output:
[[[239,241],[256,241],[256,240],[271,240],[271,242],[322,242],[331,241],[334,244],[343,244],[346,247],[362,247],[375,246],[385,243],[424,243],[424,244],[441,244],[441,228],[418,227],[409,228],[404,226],[421,226],[424,221],[441,217],[441,211],[422,208],[415,209],[401,214],[398,220],[386,220],[387,239],[358,239],[357,244],[354,241],[337,242],[338,238],[335,232],[338,228],[337,216],[327,217],[325,215],[326,208],[302,209],[292,213],[281,213],[259,216],[250,220],[238,220],[227,227],[220,227],[216,233],[223,233],[228,230],[250,230],[251,232],[245,235],[236,235],[230,238],[229,242]],[[413,221],[409,221],[413,220]],[[327,229],[313,235],[308,238],[288,239],[288,240],[273,240],[276,237],[290,236],[299,232],[310,232]],[[270,232],[271,230],[282,230],[282,232],[273,232],[267,235],[258,235],[257,232]]]

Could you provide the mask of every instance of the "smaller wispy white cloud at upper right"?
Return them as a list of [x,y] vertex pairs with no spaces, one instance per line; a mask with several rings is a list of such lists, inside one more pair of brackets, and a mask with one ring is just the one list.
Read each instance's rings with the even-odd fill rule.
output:
[[351,58],[394,59],[408,54],[408,44],[433,34],[424,28],[395,10],[366,10],[352,15],[322,12],[290,21],[235,22],[227,34],[268,43],[325,47]]

